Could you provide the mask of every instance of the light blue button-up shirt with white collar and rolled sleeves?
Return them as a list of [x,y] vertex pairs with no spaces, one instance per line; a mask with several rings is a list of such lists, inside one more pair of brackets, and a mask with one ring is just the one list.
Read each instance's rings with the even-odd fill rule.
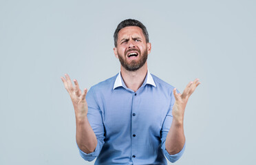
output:
[[[184,152],[169,155],[165,140],[173,120],[173,86],[147,72],[138,91],[116,74],[89,89],[87,118],[97,137],[93,153],[81,157],[95,164],[167,164]],[[179,93],[179,92],[178,92]],[[165,155],[165,157],[164,157]]]

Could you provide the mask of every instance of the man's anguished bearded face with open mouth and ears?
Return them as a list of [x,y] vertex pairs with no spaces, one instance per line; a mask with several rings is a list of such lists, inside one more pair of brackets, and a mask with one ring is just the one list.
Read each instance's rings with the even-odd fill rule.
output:
[[114,54],[122,67],[128,71],[136,71],[145,65],[147,55],[151,51],[151,44],[146,42],[145,36],[137,26],[128,26],[118,32],[117,46]]

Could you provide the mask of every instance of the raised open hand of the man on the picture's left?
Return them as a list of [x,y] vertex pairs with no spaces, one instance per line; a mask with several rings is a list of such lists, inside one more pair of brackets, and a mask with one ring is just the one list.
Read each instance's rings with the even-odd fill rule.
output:
[[70,80],[70,76],[65,74],[65,78],[61,77],[61,80],[63,81],[68,94],[70,94],[70,98],[72,100],[74,111],[76,114],[76,120],[83,120],[88,112],[88,106],[85,100],[87,89],[85,88],[82,93],[81,89],[79,89],[79,85],[76,79],[74,79],[73,86],[72,81]]

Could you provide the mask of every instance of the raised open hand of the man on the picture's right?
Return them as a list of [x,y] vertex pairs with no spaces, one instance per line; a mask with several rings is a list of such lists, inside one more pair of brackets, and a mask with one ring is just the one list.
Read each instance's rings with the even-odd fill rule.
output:
[[173,105],[173,120],[177,121],[178,123],[182,123],[184,119],[184,111],[186,107],[186,103],[189,100],[195,88],[200,85],[199,79],[196,78],[194,81],[191,81],[186,88],[184,89],[182,94],[178,94],[176,88],[173,89],[173,94],[175,97],[175,102]]

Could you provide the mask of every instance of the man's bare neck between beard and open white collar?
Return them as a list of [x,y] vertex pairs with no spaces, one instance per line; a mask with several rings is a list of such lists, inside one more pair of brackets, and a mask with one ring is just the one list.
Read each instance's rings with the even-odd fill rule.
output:
[[136,71],[128,71],[121,65],[121,76],[125,85],[136,92],[143,84],[147,75],[147,62]]

